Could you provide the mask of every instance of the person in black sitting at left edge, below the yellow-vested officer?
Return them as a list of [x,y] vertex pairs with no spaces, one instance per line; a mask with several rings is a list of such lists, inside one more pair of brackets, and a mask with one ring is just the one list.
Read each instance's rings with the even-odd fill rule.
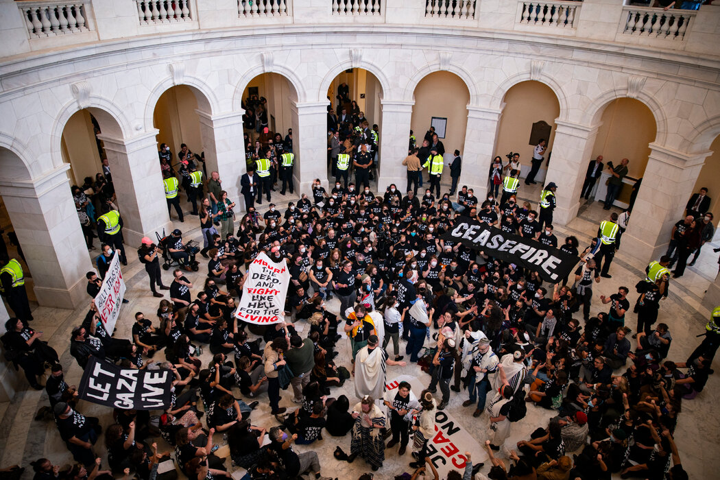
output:
[[[5,329],[6,333],[2,336],[2,344],[4,348],[8,349],[5,352],[6,358],[12,352],[13,363],[22,367],[30,386],[36,390],[42,390],[37,377],[45,373],[45,361],[56,363],[58,354],[47,343],[42,343],[40,340],[42,332],[36,332],[22,320],[15,317],[10,318],[5,322]],[[86,359],[82,361],[86,363]],[[78,358],[78,363],[80,362],[81,360]]]

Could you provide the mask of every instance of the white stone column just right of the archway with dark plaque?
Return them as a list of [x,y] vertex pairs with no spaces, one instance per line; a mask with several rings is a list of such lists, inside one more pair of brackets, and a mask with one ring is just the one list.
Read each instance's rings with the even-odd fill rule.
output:
[[[590,155],[595,145],[598,127],[572,124],[555,120],[555,140],[552,146],[552,158],[545,174],[545,184],[554,181],[557,184],[555,201],[557,207],[553,222],[567,225],[577,216],[580,208],[580,191],[585,181]],[[533,199],[540,201],[540,199]]]

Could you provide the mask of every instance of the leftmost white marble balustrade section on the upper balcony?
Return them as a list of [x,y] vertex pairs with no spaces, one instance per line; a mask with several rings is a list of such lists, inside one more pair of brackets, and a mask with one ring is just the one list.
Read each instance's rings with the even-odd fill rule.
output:
[[60,1],[22,1],[18,8],[25,20],[30,38],[54,37],[89,32],[87,6],[90,0],[66,3]]

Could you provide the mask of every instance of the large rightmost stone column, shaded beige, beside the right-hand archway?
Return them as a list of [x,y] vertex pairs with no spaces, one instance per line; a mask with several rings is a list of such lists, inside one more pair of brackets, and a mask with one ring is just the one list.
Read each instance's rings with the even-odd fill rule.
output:
[[[557,138],[557,137],[556,137]],[[685,214],[705,158],[711,154],[683,153],[651,143],[650,156],[637,195],[622,252],[644,268],[665,255],[670,230]]]

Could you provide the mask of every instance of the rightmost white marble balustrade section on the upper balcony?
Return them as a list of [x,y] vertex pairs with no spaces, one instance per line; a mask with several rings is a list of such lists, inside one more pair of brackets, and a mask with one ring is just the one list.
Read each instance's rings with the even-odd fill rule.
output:
[[626,6],[622,17],[626,35],[652,37],[665,40],[685,40],[690,22],[698,14],[695,10],[642,9]]

